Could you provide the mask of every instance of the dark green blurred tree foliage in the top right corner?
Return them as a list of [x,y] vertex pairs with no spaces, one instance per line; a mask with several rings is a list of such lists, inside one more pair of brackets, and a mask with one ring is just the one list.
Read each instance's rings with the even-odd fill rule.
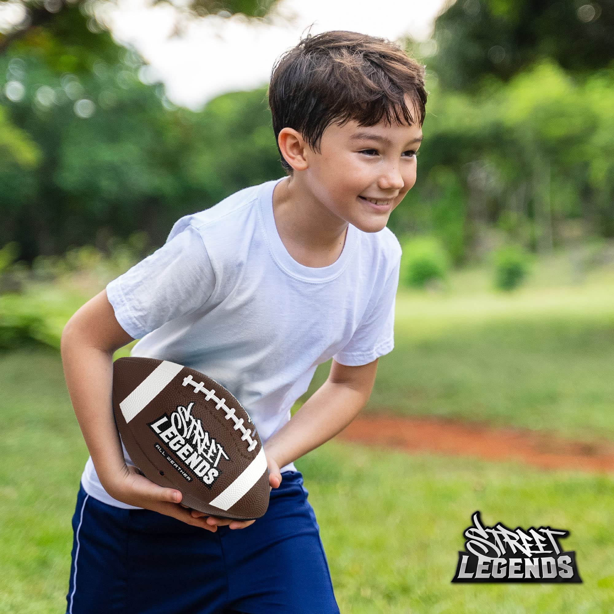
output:
[[507,82],[546,58],[588,74],[612,66],[614,0],[458,0],[437,18],[433,39],[429,70],[446,89],[484,76]]

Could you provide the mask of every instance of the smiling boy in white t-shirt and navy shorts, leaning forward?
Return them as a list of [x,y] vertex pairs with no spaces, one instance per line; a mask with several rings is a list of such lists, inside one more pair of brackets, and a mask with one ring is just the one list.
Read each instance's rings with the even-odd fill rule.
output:
[[[69,614],[339,612],[293,461],[352,421],[394,346],[401,248],[386,223],[416,181],[426,98],[424,67],[385,39],[302,39],[269,88],[287,176],[181,217],[72,316],[61,352],[90,458]],[[132,356],[202,371],[249,411],[270,470],[262,518],[207,518],[139,474],[111,405],[113,352],[134,339]]]

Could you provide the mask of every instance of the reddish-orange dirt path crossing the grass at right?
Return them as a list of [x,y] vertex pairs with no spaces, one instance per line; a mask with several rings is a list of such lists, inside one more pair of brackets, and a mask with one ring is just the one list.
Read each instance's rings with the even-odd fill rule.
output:
[[518,460],[544,469],[614,472],[614,442],[573,441],[528,429],[503,429],[448,419],[363,414],[337,437],[408,452],[473,456],[488,461]]

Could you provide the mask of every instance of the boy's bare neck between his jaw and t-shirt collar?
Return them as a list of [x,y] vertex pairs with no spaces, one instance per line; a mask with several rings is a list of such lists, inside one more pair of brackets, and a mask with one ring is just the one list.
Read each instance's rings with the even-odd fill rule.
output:
[[296,177],[286,177],[274,187],[273,217],[279,238],[299,264],[321,268],[340,257],[348,222],[319,203]]

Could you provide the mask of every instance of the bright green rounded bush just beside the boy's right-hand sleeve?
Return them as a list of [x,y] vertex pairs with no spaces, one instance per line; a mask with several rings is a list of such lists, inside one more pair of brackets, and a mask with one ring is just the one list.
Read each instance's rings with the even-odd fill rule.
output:
[[449,266],[448,254],[435,237],[408,239],[403,245],[401,282],[405,286],[424,288],[429,282],[443,281]]

